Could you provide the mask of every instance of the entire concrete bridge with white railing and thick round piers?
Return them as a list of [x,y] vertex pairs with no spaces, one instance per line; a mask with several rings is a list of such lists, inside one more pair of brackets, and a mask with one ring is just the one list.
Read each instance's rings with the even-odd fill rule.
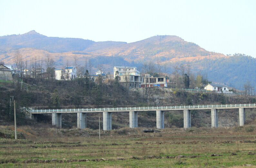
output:
[[120,108],[91,108],[91,109],[48,109],[48,110],[30,110],[30,118],[33,119],[37,114],[52,114],[52,125],[61,128],[62,113],[77,113],[77,128],[86,128],[86,113],[103,113],[103,130],[112,129],[113,112],[129,112],[130,128],[138,127],[138,112],[156,111],[156,128],[164,128],[164,111],[183,110],[184,128],[191,127],[191,110],[210,110],[212,111],[212,128],[218,127],[219,109],[239,109],[239,125],[243,126],[245,122],[245,109],[256,108],[256,104],[222,104],[222,105],[193,105],[193,106],[157,106],[157,107],[120,107]]

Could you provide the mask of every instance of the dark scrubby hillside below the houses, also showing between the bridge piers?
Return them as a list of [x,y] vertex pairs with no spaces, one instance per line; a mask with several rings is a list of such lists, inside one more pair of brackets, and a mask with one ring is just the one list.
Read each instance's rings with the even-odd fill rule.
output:
[[[235,104],[255,103],[256,99],[244,96],[228,96],[217,93],[190,93],[172,89],[151,88],[143,90],[127,90],[115,80],[97,81],[95,84],[87,78],[72,81],[55,81],[34,78],[23,79],[23,89],[20,84],[1,83],[0,98],[1,123],[13,122],[13,102],[10,109],[10,97],[16,100],[17,119],[19,125],[34,124],[26,119],[21,107],[34,109],[60,108],[96,108],[96,107],[134,107],[134,106],[170,106],[198,104]],[[145,94],[147,93],[147,94]],[[247,110],[246,123],[255,122],[256,111]],[[219,126],[232,127],[237,125],[237,109],[219,111]],[[88,128],[97,128],[98,116],[102,114],[87,114]],[[138,116],[140,127],[155,127],[155,112],[141,112]],[[210,127],[211,111],[192,111],[192,126]],[[226,122],[228,120],[228,122]],[[40,115],[38,122],[51,124],[51,115]],[[126,112],[113,114],[113,128],[129,126],[129,115]],[[63,128],[76,127],[76,114],[63,115]],[[166,128],[182,128],[183,112],[165,112]]]

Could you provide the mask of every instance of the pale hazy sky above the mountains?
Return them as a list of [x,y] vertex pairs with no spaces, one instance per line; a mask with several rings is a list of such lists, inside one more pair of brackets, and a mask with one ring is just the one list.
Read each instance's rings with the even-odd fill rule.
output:
[[209,51],[256,57],[256,1],[0,0],[0,36],[31,30],[94,41],[176,35]]

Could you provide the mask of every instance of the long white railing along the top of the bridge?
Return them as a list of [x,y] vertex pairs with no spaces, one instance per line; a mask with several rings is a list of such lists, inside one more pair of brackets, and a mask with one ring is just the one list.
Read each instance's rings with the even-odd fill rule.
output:
[[72,111],[123,111],[123,110],[161,110],[161,109],[203,109],[203,108],[226,108],[226,107],[251,107],[254,104],[216,104],[216,105],[192,105],[192,106],[156,106],[156,107],[116,107],[116,108],[87,108],[87,109],[40,109],[29,112],[72,112]]

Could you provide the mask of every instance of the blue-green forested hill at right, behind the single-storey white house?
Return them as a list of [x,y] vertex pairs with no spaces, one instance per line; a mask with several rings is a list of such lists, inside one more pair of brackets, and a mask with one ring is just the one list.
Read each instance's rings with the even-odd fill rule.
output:
[[194,71],[202,70],[208,79],[225,83],[228,86],[243,90],[247,82],[256,86],[256,58],[243,54],[234,54],[216,60],[204,59],[193,63]]

